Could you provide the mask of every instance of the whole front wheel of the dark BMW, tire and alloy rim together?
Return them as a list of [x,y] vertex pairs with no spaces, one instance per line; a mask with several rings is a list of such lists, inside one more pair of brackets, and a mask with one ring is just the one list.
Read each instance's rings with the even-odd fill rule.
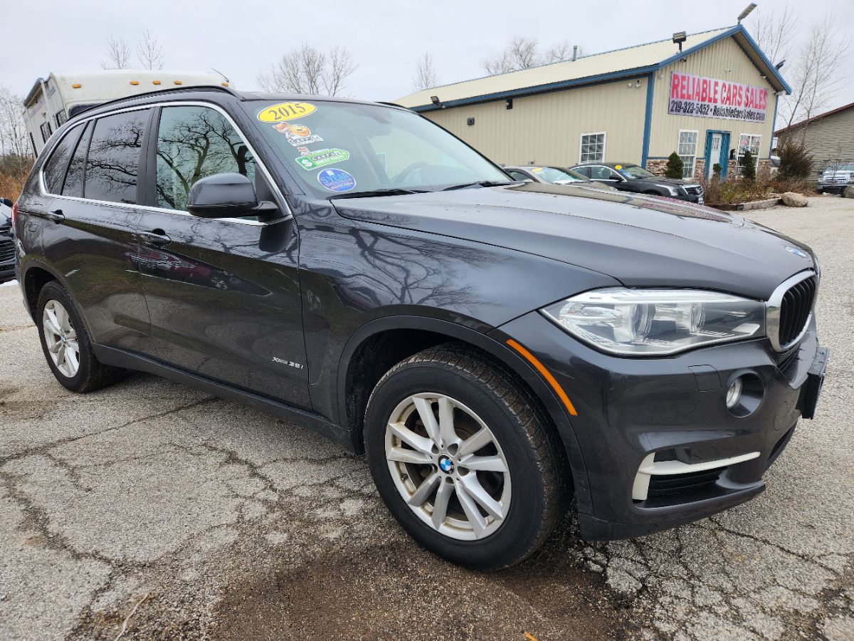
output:
[[[434,438],[424,412],[435,420]],[[515,565],[564,514],[557,434],[512,373],[463,346],[430,348],[391,368],[368,401],[365,441],[392,515],[448,561],[483,570]],[[444,515],[437,503],[447,505]]]

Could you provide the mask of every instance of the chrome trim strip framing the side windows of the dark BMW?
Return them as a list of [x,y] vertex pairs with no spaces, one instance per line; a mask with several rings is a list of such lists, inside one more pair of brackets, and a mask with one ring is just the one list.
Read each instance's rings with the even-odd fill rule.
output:
[[[267,170],[266,166],[263,162],[261,162],[258,154],[255,153],[255,150],[252,144],[249,143],[249,140],[246,137],[246,134],[243,133],[243,130],[237,123],[231,118],[231,115],[222,109],[218,104],[214,103],[205,103],[199,100],[169,100],[164,101],[162,103],[145,103],[145,104],[137,104],[132,105],[131,107],[125,107],[122,109],[111,109],[109,111],[105,111],[102,114],[89,115],[83,118],[82,120],[75,122],[73,126],[68,127],[68,131],[62,134],[62,138],[60,138],[60,142],[63,138],[65,138],[69,132],[75,129],[78,126],[84,125],[89,121],[96,120],[97,118],[103,118],[108,115],[114,114],[122,114],[127,111],[141,111],[142,109],[154,109],[155,107],[207,107],[208,109],[213,109],[218,111],[220,115],[225,117],[225,120],[229,122],[229,124],[234,127],[234,131],[243,139],[243,142],[246,144],[246,147],[249,149],[249,153],[255,159],[255,164],[260,169],[261,173],[267,179],[267,182],[270,184],[273,195],[278,197],[278,205],[283,210],[282,217],[277,218],[275,221],[244,221],[241,218],[202,218],[201,216],[193,216],[189,211],[184,211],[183,209],[166,209],[163,207],[151,207],[149,205],[137,205],[137,204],[129,204],[129,203],[114,203],[107,200],[95,200],[92,198],[80,198],[76,196],[64,196],[62,194],[52,194],[50,191],[47,191],[47,185],[44,182],[44,165],[50,160],[50,157],[42,163],[42,166],[38,168],[38,190],[41,191],[42,196],[49,196],[53,198],[61,198],[62,200],[69,201],[79,201],[83,203],[95,203],[99,205],[107,205],[108,207],[118,207],[122,209],[132,208],[132,209],[141,209],[143,211],[155,211],[161,214],[173,214],[179,216],[193,216],[193,218],[197,218],[200,221],[222,221],[222,222],[234,222],[238,225],[250,225],[250,226],[267,226],[267,225],[275,225],[278,222],[284,221],[286,219],[293,217],[293,212],[290,211],[290,207],[288,206],[288,202],[284,199],[282,192],[279,191],[278,185],[276,181],[272,179],[272,174]],[[94,132],[93,132],[94,134]],[[50,149],[50,155],[52,156],[56,150],[56,145],[53,145]],[[155,176],[156,179],[156,176]]]

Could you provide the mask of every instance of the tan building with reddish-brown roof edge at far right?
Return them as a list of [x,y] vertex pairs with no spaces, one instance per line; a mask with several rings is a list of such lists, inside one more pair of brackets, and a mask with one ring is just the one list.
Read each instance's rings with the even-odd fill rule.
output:
[[776,135],[803,140],[816,171],[854,162],[854,103],[787,126]]

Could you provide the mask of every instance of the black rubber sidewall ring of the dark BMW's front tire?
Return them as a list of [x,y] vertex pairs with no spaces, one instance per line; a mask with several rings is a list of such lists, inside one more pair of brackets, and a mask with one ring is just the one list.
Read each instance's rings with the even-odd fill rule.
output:
[[[401,497],[385,457],[385,429],[401,401],[438,393],[465,404],[493,432],[511,478],[510,509],[493,534],[461,541],[436,532]],[[488,385],[441,362],[407,363],[383,379],[371,395],[365,423],[368,464],[380,496],[401,526],[420,544],[450,561],[470,567],[504,567],[529,554],[545,515],[545,486],[528,433],[518,417]]]

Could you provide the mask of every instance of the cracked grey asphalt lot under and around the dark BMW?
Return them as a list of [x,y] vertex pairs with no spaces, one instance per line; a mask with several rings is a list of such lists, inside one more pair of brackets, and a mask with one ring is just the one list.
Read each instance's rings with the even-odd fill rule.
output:
[[750,503],[503,573],[420,550],[363,458],[132,374],[77,396],[0,287],[0,638],[854,638],[854,201],[751,217],[822,260],[816,420]]

